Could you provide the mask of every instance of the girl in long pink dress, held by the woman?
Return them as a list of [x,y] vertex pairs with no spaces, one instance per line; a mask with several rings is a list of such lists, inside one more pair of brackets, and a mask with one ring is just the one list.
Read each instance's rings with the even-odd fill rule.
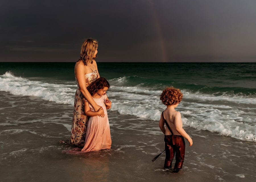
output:
[[[111,148],[110,127],[108,122],[107,109],[111,108],[111,101],[108,100],[106,92],[109,83],[105,78],[98,78],[95,82],[87,87],[96,104],[100,105],[104,110],[104,117],[100,111],[94,111],[92,105],[84,99],[84,113],[90,116],[87,126],[87,132],[82,151],[97,151],[101,149]],[[99,116],[101,115],[101,116]]]

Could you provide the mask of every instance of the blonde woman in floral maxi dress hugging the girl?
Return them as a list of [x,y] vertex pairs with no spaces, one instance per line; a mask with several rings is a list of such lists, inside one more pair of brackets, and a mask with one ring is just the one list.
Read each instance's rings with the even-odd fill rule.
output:
[[75,65],[75,79],[77,81],[77,91],[75,94],[73,122],[71,128],[70,144],[77,147],[84,146],[88,117],[84,114],[85,98],[94,108],[104,116],[104,110],[97,105],[86,87],[100,77],[96,61],[98,42],[95,39],[86,39],[82,44],[80,59]]

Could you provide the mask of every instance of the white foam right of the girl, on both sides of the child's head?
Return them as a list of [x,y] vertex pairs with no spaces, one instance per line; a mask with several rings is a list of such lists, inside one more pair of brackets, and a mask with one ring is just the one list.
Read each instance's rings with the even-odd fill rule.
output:
[[[242,104],[245,104],[245,107],[255,105],[255,98],[238,95],[214,96],[190,93],[187,90],[182,92],[185,96],[179,108],[183,110],[181,114],[184,126],[218,132],[241,140],[256,141],[256,127],[253,124],[255,109],[250,107],[247,112],[241,110]],[[161,91],[150,93],[142,87],[112,87],[112,109],[121,114],[159,120],[161,111],[165,109],[159,100],[160,94]]]

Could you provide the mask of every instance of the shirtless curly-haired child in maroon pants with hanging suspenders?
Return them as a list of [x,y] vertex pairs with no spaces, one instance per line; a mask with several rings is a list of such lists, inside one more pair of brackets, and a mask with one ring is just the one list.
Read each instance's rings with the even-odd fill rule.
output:
[[[162,112],[159,121],[159,127],[164,133],[165,153],[166,158],[164,168],[172,167],[172,160],[176,153],[176,162],[174,170],[178,172],[183,165],[185,157],[185,140],[192,146],[193,141],[191,137],[182,128],[181,115],[175,108],[181,102],[183,94],[179,89],[174,87],[167,87],[161,94],[160,100],[166,105],[166,109]],[[166,124],[167,128],[164,127]]]

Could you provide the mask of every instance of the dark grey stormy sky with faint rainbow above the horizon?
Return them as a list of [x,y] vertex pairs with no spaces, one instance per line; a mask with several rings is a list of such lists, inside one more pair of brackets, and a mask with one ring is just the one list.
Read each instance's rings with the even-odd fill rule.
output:
[[256,62],[255,0],[0,2],[0,62]]

